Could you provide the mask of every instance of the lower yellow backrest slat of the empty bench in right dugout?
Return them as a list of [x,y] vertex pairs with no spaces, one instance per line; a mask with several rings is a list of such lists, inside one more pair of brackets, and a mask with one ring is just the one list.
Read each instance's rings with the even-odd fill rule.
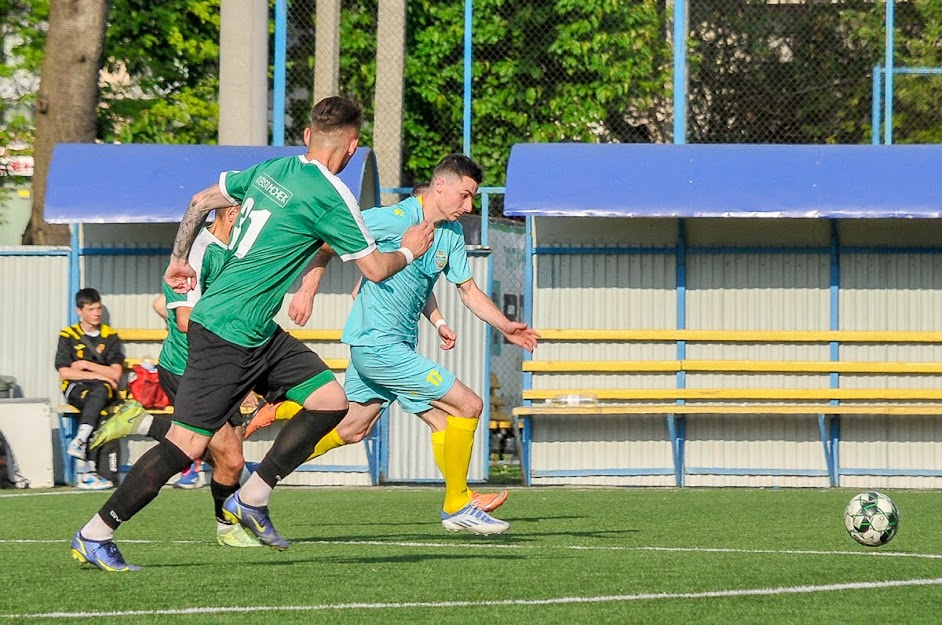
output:
[[942,373],[942,362],[866,362],[822,360],[527,360],[530,373]]

